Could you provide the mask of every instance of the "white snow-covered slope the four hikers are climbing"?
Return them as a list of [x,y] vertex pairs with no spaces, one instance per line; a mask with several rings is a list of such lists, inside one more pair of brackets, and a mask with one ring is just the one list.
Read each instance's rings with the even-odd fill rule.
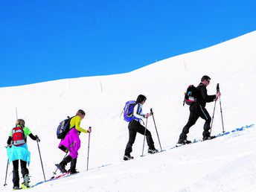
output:
[[[82,127],[91,126],[89,171],[86,171],[88,135],[80,135],[76,176],[45,182],[31,191],[255,191],[256,130],[246,129],[212,141],[170,150],[188,120],[188,106],[182,106],[183,93],[190,84],[197,85],[204,74],[212,80],[208,94],[220,83],[226,131],[255,124],[256,31],[228,42],[171,57],[127,74],[56,80],[27,86],[0,89],[0,181],[4,185],[7,135],[18,118],[24,118],[39,147],[46,178],[63,152],[57,149],[55,131],[67,115],[77,109],[86,111]],[[144,112],[153,108],[162,153],[140,157],[143,136],[137,135],[132,161],[122,161],[127,144],[127,123],[120,117],[124,103],[139,94],[147,96]],[[212,114],[214,103],[206,108]],[[202,138],[204,121],[191,127],[188,139]],[[148,121],[156,147],[159,141],[152,118]],[[212,134],[222,131],[220,103],[217,102]],[[31,151],[31,184],[43,180],[37,144],[28,138]],[[147,149],[147,148],[146,148]],[[7,174],[11,191],[12,165]]]

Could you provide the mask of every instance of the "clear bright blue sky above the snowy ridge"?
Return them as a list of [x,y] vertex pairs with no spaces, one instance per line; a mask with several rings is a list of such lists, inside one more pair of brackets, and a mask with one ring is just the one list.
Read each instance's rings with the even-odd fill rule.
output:
[[119,74],[255,31],[256,2],[1,1],[0,87]]

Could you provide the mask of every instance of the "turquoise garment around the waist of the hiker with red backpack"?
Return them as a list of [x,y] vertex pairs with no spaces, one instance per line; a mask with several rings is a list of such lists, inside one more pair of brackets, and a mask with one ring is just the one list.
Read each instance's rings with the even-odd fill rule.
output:
[[7,147],[7,156],[9,159],[9,164],[11,161],[19,160],[27,161],[28,166],[31,163],[31,153],[28,151],[28,145],[23,144],[22,146]]

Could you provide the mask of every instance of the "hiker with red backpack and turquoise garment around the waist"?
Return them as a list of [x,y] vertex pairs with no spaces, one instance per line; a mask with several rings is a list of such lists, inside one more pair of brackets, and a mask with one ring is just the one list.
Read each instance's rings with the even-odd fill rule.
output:
[[19,188],[19,161],[22,169],[22,177],[24,182],[22,187],[29,187],[28,166],[31,162],[31,153],[28,151],[27,136],[30,136],[34,141],[40,141],[38,136],[34,136],[28,127],[25,127],[25,121],[18,119],[16,121],[16,127],[11,129],[9,138],[7,140],[7,156],[9,164],[13,161],[13,189]]

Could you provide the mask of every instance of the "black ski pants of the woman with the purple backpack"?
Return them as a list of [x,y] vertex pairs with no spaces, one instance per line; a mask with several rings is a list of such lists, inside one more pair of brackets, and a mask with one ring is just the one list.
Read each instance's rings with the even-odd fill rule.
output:
[[[138,121],[133,120],[129,122],[128,129],[129,129],[129,141],[127,143],[127,147],[125,149],[124,155],[130,155],[130,153],[132,152],[132,144],[134,144],[137,132],[141,133],[141,135],[144,135],[146,128],[142,126]],[[147,138],[148,147],[154,150],[155,149],[154,141],[153,141],[151,132],[148,129],[146,129],[146,138]]]

